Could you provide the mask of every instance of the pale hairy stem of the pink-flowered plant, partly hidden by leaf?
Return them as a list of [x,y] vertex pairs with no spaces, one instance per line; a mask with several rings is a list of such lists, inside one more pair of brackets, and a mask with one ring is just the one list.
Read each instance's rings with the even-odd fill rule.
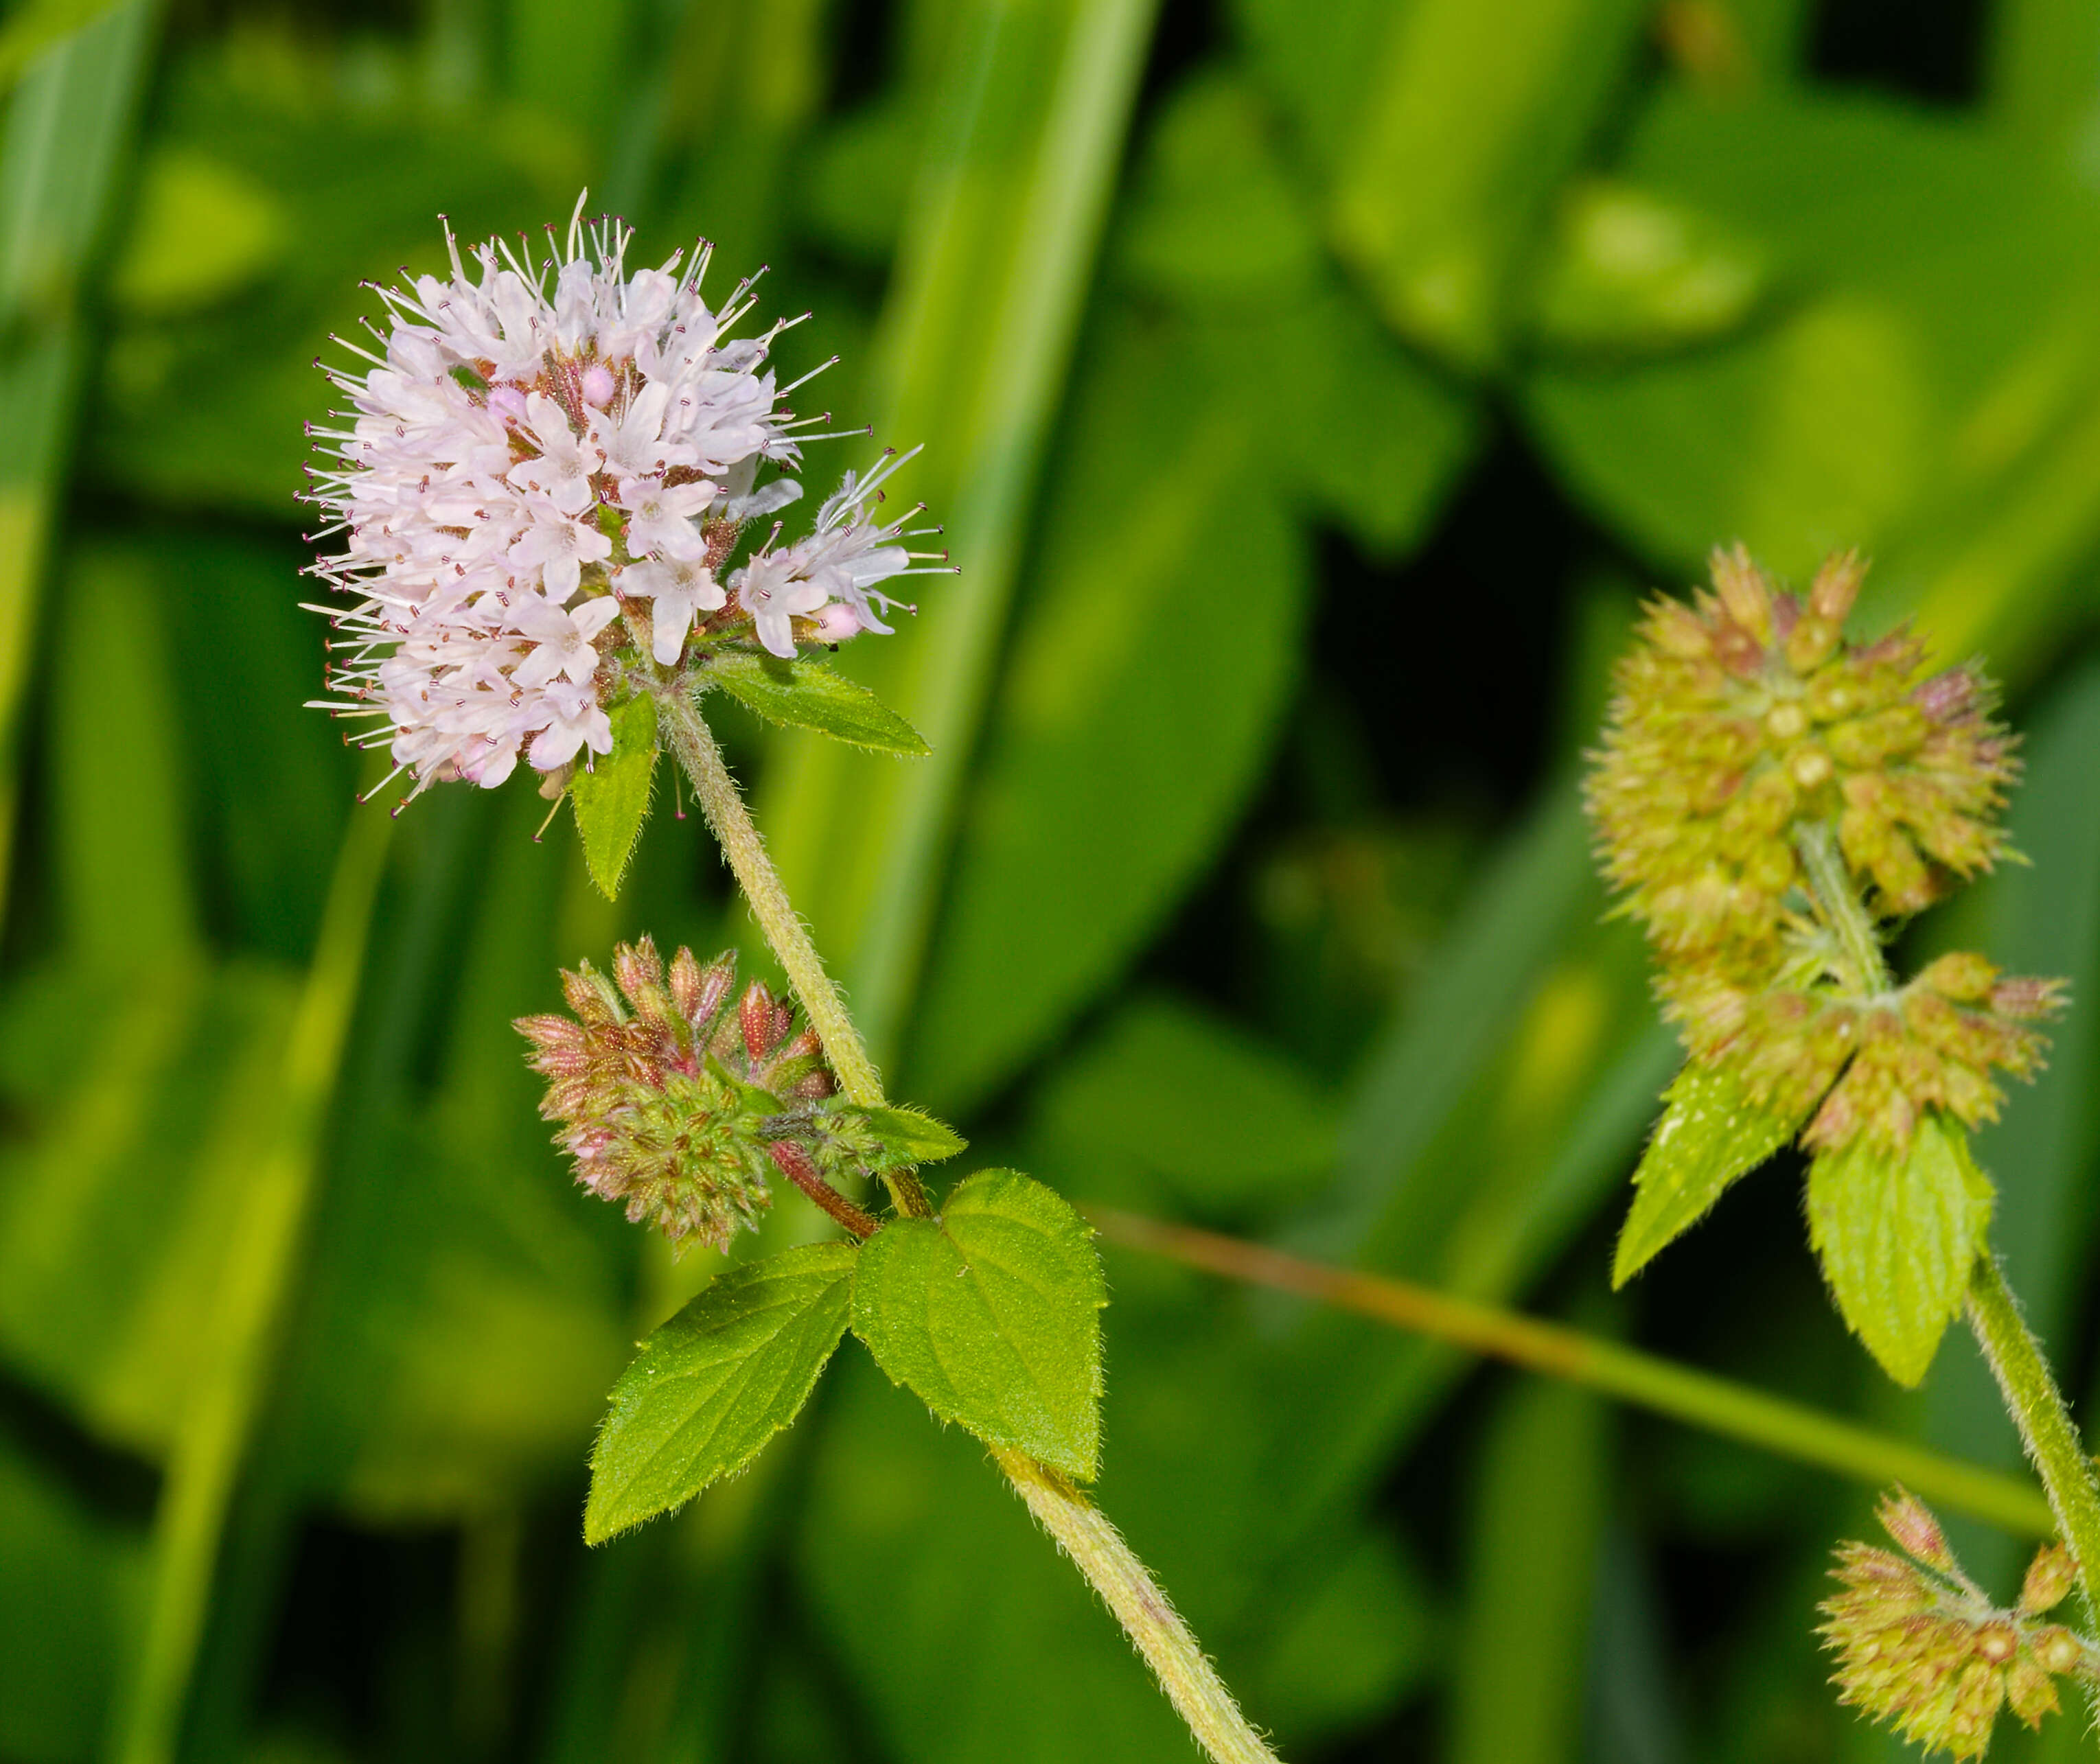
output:
[[[882,1075],[846,1014],[846,1002],[823,970],[823,958],[811,941],[808,926],[802,924],[781,886],[779,872],[773,869],[766,842],[752,821],[743,792],[737,790],[737,781],[722,762],[722,750],[701,718],[697,699],[687,693],[666,693],[657,704],[662,727],[670,731],[672,750],[693,781],[699,808],[708,817],[743,897],[752,903],[758,928],[788,970],[846,1096],[863,1109],[886,1107]],[[932,1203],[914,1174],[884,1172],[882,1180],[899,1212],[914,1218],[934,1216]],[[991,1455],[1021,1499],[1027,1502],[1035,1520],[1071,1556],[1079,1573],[1115,1613],[1197,1743],[1218,1764],[1277,1764],[1277,1756],[1239,1714],[1233,1693],[1224,1688],[1203,1657],[1189,1625],[1174,1613],[1168,1596],[1144,1571],[1144,1562],[1132,1554],[1121,1533],[1109,1525],[1100,1510],[1065,1476],[1037,1464],[1025,1451],[991,1447]]]

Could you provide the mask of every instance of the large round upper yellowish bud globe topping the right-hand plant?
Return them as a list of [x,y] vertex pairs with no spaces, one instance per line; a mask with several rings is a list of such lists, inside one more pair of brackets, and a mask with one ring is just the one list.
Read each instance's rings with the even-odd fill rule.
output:
[[1993,817],[2016,762],[1989,687],[1968,668],[1928,678],[1907,632],[1846,643],[1863,575],[1833,556],[1800,601],[1737,546],[1714,554],[1712,594],[1648,607],[1590,813],[1606,876],[1665,956],[1772,945],[1810,821],[1838,827],[1884,918],[2003,855]]

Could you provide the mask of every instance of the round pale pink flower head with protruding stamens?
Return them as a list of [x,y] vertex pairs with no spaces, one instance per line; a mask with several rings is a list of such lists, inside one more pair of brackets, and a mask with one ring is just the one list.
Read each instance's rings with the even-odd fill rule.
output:
[[363,365],[323,370],[351,401],[309,468],[321,536],[344,536],[311,567],[346,601],[317,609],[338,632],[323,706],[370,716],[365,743],[418,790],[609,752],[615,655],[888,632],[882,584],[930,556],[905,548],[909,514],[872,512],[897,456],[848,472],[804,538],[741,544],[800,498],[802,430],[825,418],[794,418],[802,382],[766,365],[788,321],[731,336],[750,281],[710,307],[706,246],[628,275],[630,237],[578,202],[565,246],[491,239],[470,271],[447,229],[452,275],[376,288],[380,353],[344,344]]

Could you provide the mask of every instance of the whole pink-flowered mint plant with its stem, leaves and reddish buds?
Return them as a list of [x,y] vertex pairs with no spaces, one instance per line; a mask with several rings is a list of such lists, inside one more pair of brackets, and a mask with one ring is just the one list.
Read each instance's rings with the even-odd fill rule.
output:
[[[332,697],[410,794],[504,783],[523,762],[567,800],[613,895],[670,750],[779,958],[794,1002],[737,985],[731,956],[666,964],[643,939],[611,974],[565,974],[571,1014],[519,1029],[578,1180],[685,1247],[727,1250],[785,1180],[838,1237],[722,1273],[651,1336],[592,1453],[590,1541],[682,1506],[788,1426],[850,1329],[934,1418],[981,1438],[1124,1623],[1222,1764],[1273,1760],[1166,1594],[1088,1502],[1100,1453],[1092,1233],[1012,1170],[939,1203],[918,1170],[964,1142],[884,1094],[706,720],[727,693],[775,722],[880,754],[918,733],[811,651],[890,632],[890,586],[947,569],[882,519],[884,456],[806,529],[798,418],[748,332],[752,284],[701,292],[708,250],[626,269],[630,233],[582,202],[542,254],[489,242],[452,273],[376,290],[376,353],[328,370],[311,500],[340,550]],[[909,458],[909,456],[905,456]],[[800,1006],[800,1010],[796,1010]],[[886,1199],[876,1205],[869,1189]],[[869,1212],[848,1191],[869,1197]],[[958,1573],[968,1573],[958,1562]]]

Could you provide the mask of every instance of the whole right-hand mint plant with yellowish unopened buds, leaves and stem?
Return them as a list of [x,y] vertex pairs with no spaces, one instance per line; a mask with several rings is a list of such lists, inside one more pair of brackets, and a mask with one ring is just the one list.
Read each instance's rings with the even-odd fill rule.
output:
[[1896,1493],[1882,1518],[1905,1554],[1840,1550],[1823,1638],[1844,1701],[1976,1758],[2001,1709],[2039,1724],[2058,1707],[2056,1676],[2100,1684],[2096,1644],[2039,1621],[2075,1581],[2100,1615],[2100,1485],[1991,1254],[1995,1186],[1970,1147],[2001,1077],[2037,1071],[2035,1023],[2064,993],[1976,951],[1890,966],[1913,914],[2012,857],[1997,815],[2018,760],[1974,666],[1930,670],[1907,630],[1846,638],[1863,573],[1846,552],[1791,594],[1741,546],[1716,552],[1712,592],[1653,603],[1619,664],[1588,804],[1686,1058],[1615,1281],[1798,1142],[1810,1245],[1890,1378],[1917,1384],[1968,1315],[2060,1541],[2001,1611]]

